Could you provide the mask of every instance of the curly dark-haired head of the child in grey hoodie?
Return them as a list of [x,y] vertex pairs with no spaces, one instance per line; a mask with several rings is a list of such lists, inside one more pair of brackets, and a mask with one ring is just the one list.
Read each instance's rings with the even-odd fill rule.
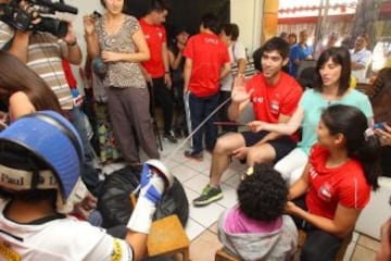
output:
[[283,212],[288,186],[270,165],[256,164],[238,187],[240,210],[250,219],[273,221]]

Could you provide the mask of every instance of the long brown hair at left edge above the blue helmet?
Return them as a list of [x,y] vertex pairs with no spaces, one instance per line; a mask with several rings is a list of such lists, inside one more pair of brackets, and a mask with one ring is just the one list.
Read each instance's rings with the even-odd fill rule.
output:
[[47,83],[14,55],[0,50],[0,88],[8,95],[24,92],[36,111],[52,110],[63,114],[59,100]]

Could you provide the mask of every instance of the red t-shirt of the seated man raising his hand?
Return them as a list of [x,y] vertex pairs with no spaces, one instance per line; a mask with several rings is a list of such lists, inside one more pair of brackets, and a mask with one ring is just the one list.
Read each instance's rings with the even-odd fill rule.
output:
[[[245,87],[248,91],[254,89],[251,102],[256,120],[267,123],[278,123],[280,114],[292,115],[303,94],[298,82],[283,72],[275,86],[268,86],[261,73],[249,79]],[[298,140],[297,135],[292,138]]]

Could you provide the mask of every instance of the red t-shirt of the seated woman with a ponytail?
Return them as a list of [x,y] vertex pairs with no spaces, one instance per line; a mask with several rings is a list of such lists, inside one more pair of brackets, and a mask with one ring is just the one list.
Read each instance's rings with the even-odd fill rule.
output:
[[362,164],[349,160],[338,167],[326,167],[327,149],[314,145],[310,153],[311,189],[306,206],[311,213],[332,220],[340,203],[345,208],[364,209],[370,198]]

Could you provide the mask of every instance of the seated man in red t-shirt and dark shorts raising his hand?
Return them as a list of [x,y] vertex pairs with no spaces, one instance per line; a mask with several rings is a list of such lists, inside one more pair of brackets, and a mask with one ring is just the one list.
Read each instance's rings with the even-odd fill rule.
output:
[[[274,37],[262,47],[262,73],[244,82],[243,75],[235,79],[232,100],[228,108],[231,121],[240,117],[252,102],[255,119],[268,123],[287,123],[302,96],[301,86],[281,71],[289,60],[289,45]],[[249,124],[251,126],[251,123]],[[210,183],[193,204],[201,207],[223,198],[220,178],[231,157],[247,159],[249,171],[255,163],[270,163],[281,159],[294,147],[298,137],[268,132],[229,133],[217,139],[212,154]]]

